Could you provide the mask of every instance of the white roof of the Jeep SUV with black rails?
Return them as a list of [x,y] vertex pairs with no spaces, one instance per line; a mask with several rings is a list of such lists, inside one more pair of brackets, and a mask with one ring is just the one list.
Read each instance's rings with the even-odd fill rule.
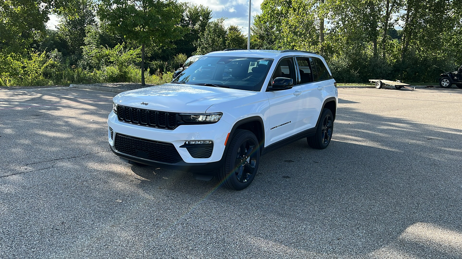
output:
[[[246,50],[229,50],[229,51],[215,51],[207,53],[204,56],[237,56],[237,57],[250,57],[250,58],[268,58],[278,59],[285,56],[309,56],[322,58],[315,53],[309,53],[297,50],[264,50],[264,49],[246,49]],[[323,59],[323,58],[322,58]]]

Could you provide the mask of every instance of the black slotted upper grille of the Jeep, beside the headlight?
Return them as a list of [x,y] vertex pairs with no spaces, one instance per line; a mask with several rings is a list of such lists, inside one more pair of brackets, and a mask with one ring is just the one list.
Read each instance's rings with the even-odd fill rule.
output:
[[117,118],[119,121],[137,124],[146,127],[174,130],[178,126],[179,115],[176,112],[160,112],[134,108],[128,106],[117,106]]

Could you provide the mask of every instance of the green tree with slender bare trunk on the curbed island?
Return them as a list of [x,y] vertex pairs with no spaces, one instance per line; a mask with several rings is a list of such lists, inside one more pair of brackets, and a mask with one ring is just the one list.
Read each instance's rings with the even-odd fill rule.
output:
[[141,85],[145,46],[163,46],[181,37],[183,7],[176,0],[102,0],[98,16],[119,35],[141,45]]

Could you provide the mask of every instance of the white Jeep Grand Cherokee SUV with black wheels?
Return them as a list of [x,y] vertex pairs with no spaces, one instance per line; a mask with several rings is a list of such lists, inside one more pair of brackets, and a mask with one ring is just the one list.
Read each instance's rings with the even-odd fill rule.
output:
[[260,156],[307,138],[326,148],[338,93],[325,60],[298,50],[208,53],[171,83],[117,94],[110,148],[134,165],[191,171],[240,190]]

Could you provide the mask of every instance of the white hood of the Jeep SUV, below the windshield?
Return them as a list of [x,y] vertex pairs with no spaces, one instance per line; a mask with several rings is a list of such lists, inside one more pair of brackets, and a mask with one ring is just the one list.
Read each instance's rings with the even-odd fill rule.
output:
[[163,112],[206,112],[208,107],[256,92],[188,84],[163,84],[117,94],[116,104]]

